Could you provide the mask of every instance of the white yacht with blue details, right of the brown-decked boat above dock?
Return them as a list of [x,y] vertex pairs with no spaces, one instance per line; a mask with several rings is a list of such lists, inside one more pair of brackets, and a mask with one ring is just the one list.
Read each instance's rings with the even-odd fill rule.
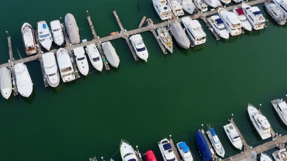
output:
[[41,45],[46,48],[46,50],[50,50],[52,46],[52,35],[50,29],[46,23],[46,21],[41,21],[37,23],[38,26],[38,39]]

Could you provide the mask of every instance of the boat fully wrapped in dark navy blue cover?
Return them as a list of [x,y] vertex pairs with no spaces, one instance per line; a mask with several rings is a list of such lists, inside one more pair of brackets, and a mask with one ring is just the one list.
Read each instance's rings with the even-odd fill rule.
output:
[[201,132],[196,132],[196,144],[203,161],[212,161],[211,151]]

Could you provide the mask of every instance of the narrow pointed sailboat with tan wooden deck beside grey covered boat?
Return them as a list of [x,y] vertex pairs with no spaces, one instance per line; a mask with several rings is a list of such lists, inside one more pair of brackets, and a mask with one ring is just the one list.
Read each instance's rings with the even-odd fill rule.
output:
[[167,48],[169,52],[172,53],[173,52],[172,39],[166,28],[165,27],[158,28],[157,32],[163,46]]

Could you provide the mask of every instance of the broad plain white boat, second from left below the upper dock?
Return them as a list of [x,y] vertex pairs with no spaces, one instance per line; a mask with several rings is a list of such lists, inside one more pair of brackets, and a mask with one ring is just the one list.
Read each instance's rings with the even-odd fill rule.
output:
[[14,68],[19,94],[23,97],[29,97],[33,92],[33,83],[27,66],[23,63],[18,63],[14,65]]

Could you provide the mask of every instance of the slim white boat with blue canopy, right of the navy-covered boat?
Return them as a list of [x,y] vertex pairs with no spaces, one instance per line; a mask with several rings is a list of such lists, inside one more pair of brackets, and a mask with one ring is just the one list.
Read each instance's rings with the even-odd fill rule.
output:
[[214,147],[215,152],[220,156],[220,157],[224,157],[225,154],[225,150],[223,148],[223,146],[221,145],[221,142],[215,132],[214,128],[210,128],[206,131],[207,136],[211,142],[211,145]]

